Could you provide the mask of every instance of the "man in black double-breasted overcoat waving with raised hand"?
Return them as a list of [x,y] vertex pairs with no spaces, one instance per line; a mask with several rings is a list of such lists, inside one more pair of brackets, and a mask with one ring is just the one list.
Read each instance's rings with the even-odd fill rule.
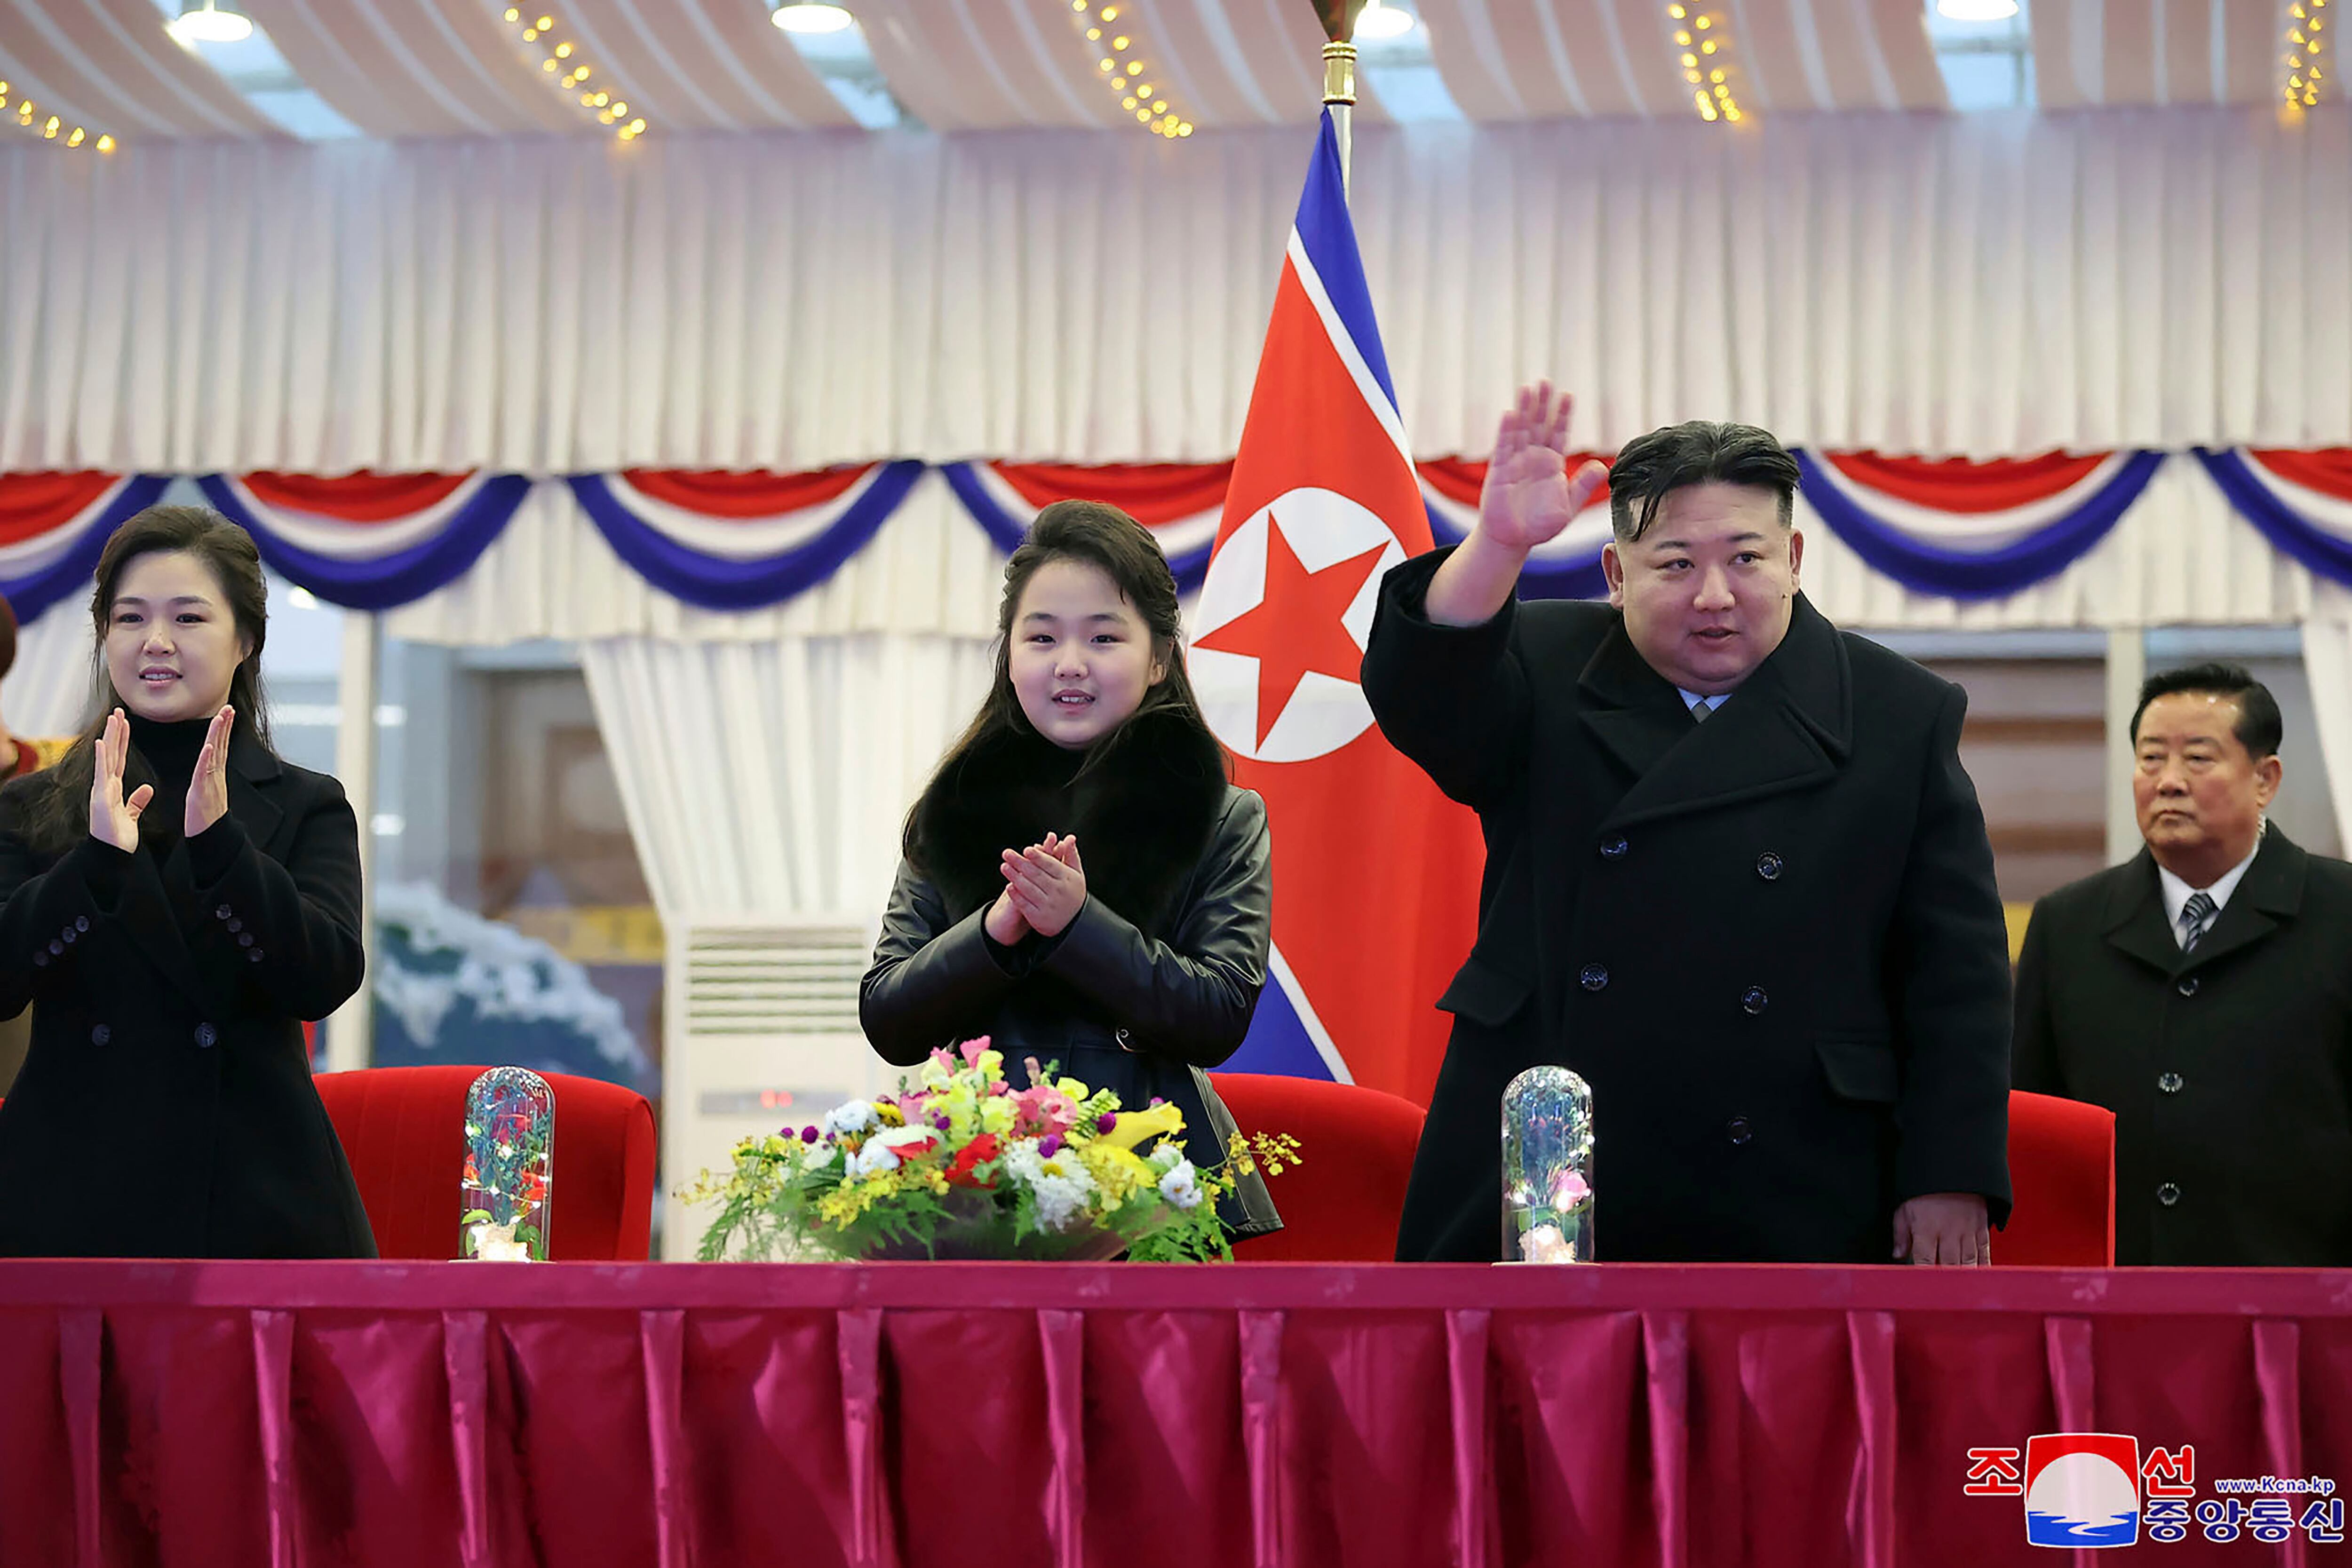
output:
[[1797,592],[1797,465],[1691,423],[1618,454],[1609,604],[1517,604],[1602,482],[1503,416],[1470,538],[1381,590],[1364,691],[1479,811],[1479,933],[1397,1255],[1501,1253],[1501,1095],[1592,1086],[1595,1251],[1987,1262],[2009,957],[1964,693]]

